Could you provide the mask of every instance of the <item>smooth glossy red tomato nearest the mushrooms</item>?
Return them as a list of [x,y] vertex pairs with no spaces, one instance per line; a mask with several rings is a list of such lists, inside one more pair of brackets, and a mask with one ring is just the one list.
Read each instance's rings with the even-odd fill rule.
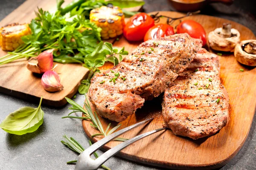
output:
[[184,20],[177,26],[177,34],[188,33],[192,38],[198,38],[206,45],[207,38],[204,27],[193,20]]

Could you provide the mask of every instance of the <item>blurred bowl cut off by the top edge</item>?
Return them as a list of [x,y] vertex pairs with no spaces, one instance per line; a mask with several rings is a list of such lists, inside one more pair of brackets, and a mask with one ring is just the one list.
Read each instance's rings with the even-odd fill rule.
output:
[[234,0],[170,0],[173,8],[177,11],[198,11],[209,3],[224,3],[231,5]]

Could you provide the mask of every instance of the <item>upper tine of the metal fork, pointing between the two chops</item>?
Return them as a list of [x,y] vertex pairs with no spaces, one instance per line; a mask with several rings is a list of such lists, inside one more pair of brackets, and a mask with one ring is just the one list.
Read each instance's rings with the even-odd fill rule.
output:
[[[132,130],[134,129],[135,127],[138,127],[140,125],[143,125],[144,123],[146,122],[149,122],[151,121],[153,118],[151,119],[147,119],[147,120],[144,120],[142,122],[139,122],[139,123],[136,123],[134,125],[131,125],[131,126],[128,126],[128,127],[125,127],[121,130],[118,130],[117,132],[115,133],[112,133],[111,135],[109,136],[106,136],[105,138],[99,140],[98,142],[94,143],[93,145],[91,145],[90,147],[88,147],[86,150],[87,152],[90,152],[90,155],[93,154],[96,150],[98,150],[99,148],[103,147],[105,144],[107,144],[108,142],[110,142],[111,140],[115,139],[116,137],[122,135],[123,133],[129,131],[129,130]],[[82,154],[82,153],[81,153]]]

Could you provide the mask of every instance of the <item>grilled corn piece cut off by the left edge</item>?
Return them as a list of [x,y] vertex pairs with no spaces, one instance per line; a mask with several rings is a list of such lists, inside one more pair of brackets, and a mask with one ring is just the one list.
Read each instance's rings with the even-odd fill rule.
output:
[[0,28],[0,46],[4,51],[14,51],[23,44],[21,37],[30,34],[28,24],[13,23]]

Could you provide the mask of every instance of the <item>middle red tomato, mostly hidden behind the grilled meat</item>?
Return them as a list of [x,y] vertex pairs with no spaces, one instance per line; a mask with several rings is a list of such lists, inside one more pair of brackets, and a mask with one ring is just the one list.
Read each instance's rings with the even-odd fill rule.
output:
[[174,31],[172,26],[168,24],[157,24],[149,28],[145,34],[144,41],[156,39],[160,37],[166,37],[168,35],[173,35]]

